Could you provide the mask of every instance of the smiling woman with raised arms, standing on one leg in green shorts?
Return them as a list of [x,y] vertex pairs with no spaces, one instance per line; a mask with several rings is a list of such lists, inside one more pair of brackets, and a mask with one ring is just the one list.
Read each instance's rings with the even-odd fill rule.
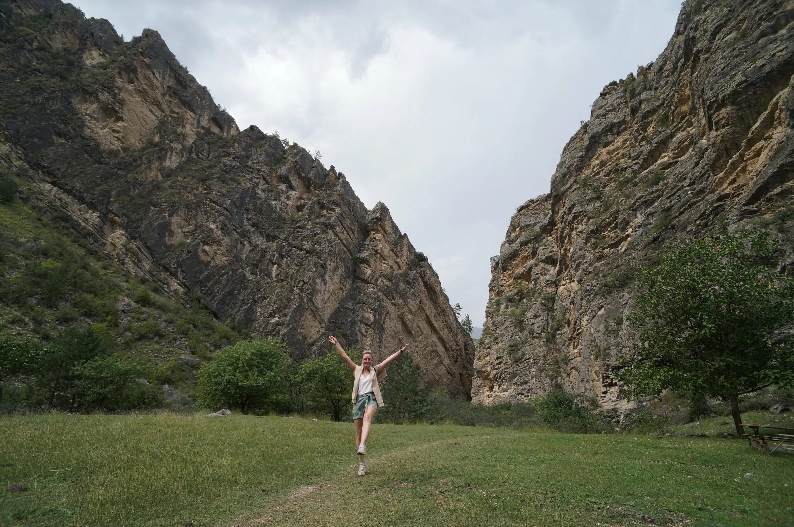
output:
[[379,406],[384,406],[384,399],[380,397],[380,387],[378,381],[386,377],[386,367],[403,354],[408,349],[409,344],[405,344],[377,366],[372,366],[372,352],[364,351],[361,356],[361,365],[357,366],[339,342],[331,335],[328,337],[331,344],[337,347],[337,352],[345,360],[345,363],[353,371],[353,422],[356,423],[356,444],[358,444],[358,475],[364,475],[367,465],[364,463],[364,454],[367,453],[367,438],[372,429],[372,417],[378,412]]

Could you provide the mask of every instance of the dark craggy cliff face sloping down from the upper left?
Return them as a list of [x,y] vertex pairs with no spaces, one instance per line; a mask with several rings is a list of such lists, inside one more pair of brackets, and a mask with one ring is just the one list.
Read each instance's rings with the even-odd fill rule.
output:
[[175,298],[277,335],[333,333],[376,359],[410,341],[428,379],[471,390],[474,345],[384,204],[297,144],[240,131],[156,32],[124,42],[56,0],[0,3],[0,162]]

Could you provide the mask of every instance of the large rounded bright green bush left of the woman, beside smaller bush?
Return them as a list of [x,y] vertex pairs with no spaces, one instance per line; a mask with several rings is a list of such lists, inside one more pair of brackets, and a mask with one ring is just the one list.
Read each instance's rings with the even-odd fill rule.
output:
[[217,352],[198,370],[198,402],[243,414],[272,410],[287,397],[287,347],[277,338],[245,340]]

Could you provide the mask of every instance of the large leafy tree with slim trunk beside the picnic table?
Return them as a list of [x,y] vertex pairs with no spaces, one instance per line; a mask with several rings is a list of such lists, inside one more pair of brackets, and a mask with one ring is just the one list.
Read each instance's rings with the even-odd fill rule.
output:
[[638,272],[631,324],[641,333],[618,378],[634,394],[688,390],[730,402],[744,433],[738,396],[794,382],[794,277],[777,271],[781,249],[765,231],[723,233],[670,248]]

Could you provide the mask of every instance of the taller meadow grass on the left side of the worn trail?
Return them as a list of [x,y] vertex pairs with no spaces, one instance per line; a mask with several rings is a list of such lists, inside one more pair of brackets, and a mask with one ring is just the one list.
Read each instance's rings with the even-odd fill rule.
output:
[[[371,445],[495,433],[376,425]],[[300,418],[0,417],[0,438],[0,525],[223,525],[357,462],[351,423]]]

